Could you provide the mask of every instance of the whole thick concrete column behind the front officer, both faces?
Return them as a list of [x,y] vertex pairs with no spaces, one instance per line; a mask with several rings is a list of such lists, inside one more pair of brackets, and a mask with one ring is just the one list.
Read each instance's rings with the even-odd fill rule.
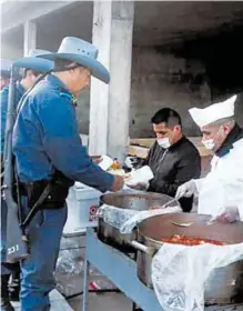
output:
[[109,87],[91,83],[90,153],[108,153],[121,161],[129,142],[133,14],[133,1],[94,1],[93,43],[111,82]]

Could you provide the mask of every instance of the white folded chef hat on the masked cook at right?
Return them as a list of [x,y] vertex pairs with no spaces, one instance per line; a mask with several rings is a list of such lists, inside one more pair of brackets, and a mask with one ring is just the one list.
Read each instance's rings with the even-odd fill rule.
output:
[[204,109],[192,108],[189,110],[193,121],[200,127],[209,126],[217,120],[234,116],[234,103],[236,96],[230,99],[211,104]]

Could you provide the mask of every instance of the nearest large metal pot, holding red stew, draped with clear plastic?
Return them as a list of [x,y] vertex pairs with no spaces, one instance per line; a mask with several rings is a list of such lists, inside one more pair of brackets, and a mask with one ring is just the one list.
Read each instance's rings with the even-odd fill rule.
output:
[[[183,234],[202,239],[212,239],[229,244],[243,242],[243,222],[207,224],[210,217],[202,214],[176,213],[158,215],[144,220],[138,225],[138,240],[142,244],[138,252],[138,275],[152,288],[151,262],[153,254],[163,244],[161,239]],[[193,222],[191,227],[178,227],[172,222]],[[243,261],[215,269],[205,285],[205,304],[243,302]]]

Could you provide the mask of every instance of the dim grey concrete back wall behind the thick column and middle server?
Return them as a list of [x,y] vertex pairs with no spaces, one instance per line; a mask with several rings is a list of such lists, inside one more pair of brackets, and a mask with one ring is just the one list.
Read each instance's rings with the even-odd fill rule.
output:
[[[199,134],[188,113],[189,108],[210,101],[207,84],[195,81],[199,74],[204,74],[204,68],[199,62],[161,54],[150,48],[133,48],[130,136],[153,136],[150,119],[163,107],[171,107],[181,114],[185,134]],[[80,131],[88,133],[88,91],[80,96],[77,111]]]

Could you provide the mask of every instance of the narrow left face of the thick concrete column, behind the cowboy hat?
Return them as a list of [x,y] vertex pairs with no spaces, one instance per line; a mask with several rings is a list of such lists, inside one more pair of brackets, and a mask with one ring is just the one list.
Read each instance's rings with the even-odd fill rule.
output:
[[[98,59],[110,71],[111,2],[93,2],[92,41],[99,49]],[[108,151],[109,84],[91,79],[89,152],[92,156]]]

